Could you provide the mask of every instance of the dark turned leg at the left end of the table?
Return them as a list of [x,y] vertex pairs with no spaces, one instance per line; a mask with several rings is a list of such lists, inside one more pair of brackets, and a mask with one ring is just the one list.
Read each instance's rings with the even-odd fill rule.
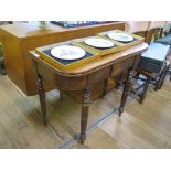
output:
[[41,75],[38,74],[38,86],[39,86],[39,97],[42,108],[42,119],[43,124],[47,125],[47,116],[46,116],[46,104],[45,104],[45,90],[44,90],[44,82]]

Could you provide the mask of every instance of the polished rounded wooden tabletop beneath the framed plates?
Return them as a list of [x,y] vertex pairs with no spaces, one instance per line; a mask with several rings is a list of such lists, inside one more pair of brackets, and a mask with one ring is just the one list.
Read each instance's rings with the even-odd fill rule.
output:
[[84,75],[84,74],[87,74],[87,73],[92,73],[95,70],[98,70],[98,68],[105,67],[107,65],[110,65],[114,62],[121,61],[125,57],[129,57],[129,56],[132,56],[132,55],[140,54],[143,51],[146,51],[147,49],[148,49],[148,44],[147,43],[141,43],[141,44],[131,46],[131,47],[129,47],[127,50],[110,54],[110,55],[99,56],[95,61],[92,61],[92,62],[89,62],[87,64],[77,66],[77,67],[75,67],[73,70],[67,70],[65,72],[52,66],[51,64],[49,64],[45,61],[43,61],[42,58],[40,58],[39,55],[36,55],[34,51],[31,51],[31,54],[32,54],[34,60],[42,63],[43,65],[46,65],[49,68],[53,70],[54,72],[57,72],[58,74],[68,75],[68,76],[70,75],[71,76],[73,76],[73,75],[78,76],[78,75]]

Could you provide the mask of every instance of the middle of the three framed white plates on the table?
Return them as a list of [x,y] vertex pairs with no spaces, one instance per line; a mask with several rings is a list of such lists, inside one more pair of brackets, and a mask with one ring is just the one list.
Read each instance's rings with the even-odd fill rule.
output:
[[107,49],[114,46],[111,41],[100,39],[100,38],[89,38],[84,41],[87,45],[99,47],[99,49]]

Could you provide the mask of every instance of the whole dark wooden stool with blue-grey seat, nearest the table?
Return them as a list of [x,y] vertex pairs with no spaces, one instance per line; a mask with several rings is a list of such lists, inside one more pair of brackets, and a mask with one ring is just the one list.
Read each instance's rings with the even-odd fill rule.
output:
[[141,54],[141,61],[137,70],[137,75],[142,74],[146,76],[146,79],[139,103],[143,103],[150,83],[154,85],[154,90],[161,88],[168,71],[165,58],[169,51],[169,45],[151,43],[148,51]]

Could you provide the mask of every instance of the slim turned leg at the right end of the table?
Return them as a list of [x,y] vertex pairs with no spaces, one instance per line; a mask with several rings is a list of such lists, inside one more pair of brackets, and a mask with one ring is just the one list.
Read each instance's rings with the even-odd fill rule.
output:
[[122,95],[121,95],[121,103],[120,103],[120,107],[119,107],[119,116],[121,116],[122,111],[124,111],[124,107],[125,107],[125,104],[126,104],[126,100],[127,100],[127,97],[128,97],[128,94],[129,94],[129,89],[130,89],[130,75],[131,75],[131,71],[128,71],[128,74],[127,74],[127,79],[126,79],[126,83],[125,83],[125,87],[124,87],[124,92],[122,92]]

